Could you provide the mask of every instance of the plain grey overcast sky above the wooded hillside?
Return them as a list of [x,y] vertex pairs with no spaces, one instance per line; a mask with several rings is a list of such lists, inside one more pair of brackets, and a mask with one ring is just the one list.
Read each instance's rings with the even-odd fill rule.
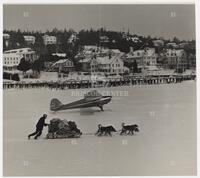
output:
[[194,5],[4,5],[3,28],[73,28],[127,31],[138,35],[195,39]]

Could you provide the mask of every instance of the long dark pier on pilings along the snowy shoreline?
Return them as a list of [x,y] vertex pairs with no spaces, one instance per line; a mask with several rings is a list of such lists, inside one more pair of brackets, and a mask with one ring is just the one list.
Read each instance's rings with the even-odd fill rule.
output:
[[128,76],[123,78],[108,79],[107,81],[56,81],[56,82],[15,82],[3,83],[3,89],[26,89],[26,88],[49,88],[49,89],[78,89],[78,88],[98,88],[117,87],[134,85],[156,85],[181,83],[185,80],[195,80],[195,75],[175,75],[175,76]]

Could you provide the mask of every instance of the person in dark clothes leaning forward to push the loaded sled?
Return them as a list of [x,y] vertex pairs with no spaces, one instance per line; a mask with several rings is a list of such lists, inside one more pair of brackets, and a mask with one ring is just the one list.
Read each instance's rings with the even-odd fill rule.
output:
[[31,138],[31,136],[34,136],[34,139],[37,139],[41,134],[44,126],[47,126],[48,124],[45,123],[45,119],[47,118],[46,114],[43,114],[43,116],[39,119],[38,123],[36,124],[36,131],[30,135],[28,135],[28,139]]

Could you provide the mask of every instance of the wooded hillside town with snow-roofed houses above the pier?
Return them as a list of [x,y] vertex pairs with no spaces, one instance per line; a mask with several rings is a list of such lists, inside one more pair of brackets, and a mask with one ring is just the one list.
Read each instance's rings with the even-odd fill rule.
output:
[[194,40],[166,40],[103,28],[78,33],[72,29],[46,33],[4,30],[3,78],[10,83],[194,76],[195,50]]

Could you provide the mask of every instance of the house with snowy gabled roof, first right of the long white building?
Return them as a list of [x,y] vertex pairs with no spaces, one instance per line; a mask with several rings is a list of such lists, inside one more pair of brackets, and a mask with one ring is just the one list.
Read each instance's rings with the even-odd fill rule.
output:
[[74,70],[74,63],[69,59],[60,59],[51,65],[51,70],[57,72],[71,72]]

